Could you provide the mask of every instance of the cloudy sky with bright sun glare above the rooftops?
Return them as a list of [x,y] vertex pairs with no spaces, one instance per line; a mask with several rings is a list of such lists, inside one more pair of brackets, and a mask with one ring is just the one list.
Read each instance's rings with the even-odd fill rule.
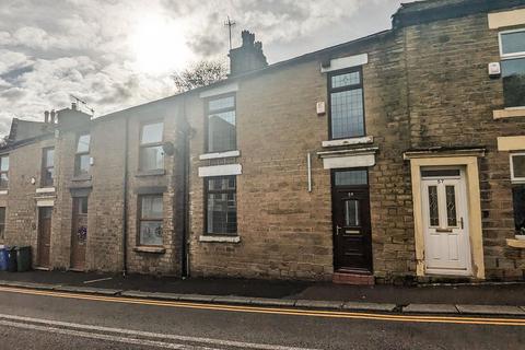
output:
[[176,93],[171,73],[228,63],[248,28],[270,63],[390,27],[410,0],[10,0],[0,2],[0,135],[70,94],[103,115]]

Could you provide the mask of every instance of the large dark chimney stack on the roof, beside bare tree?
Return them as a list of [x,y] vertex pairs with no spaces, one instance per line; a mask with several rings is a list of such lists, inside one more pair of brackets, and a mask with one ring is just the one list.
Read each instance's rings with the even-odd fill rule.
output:
[[262,43],[255,42],[255,34],[248,31],[241,33],[243,45],[230,50],[230,77],[255,71],[268,66],[262,52]]

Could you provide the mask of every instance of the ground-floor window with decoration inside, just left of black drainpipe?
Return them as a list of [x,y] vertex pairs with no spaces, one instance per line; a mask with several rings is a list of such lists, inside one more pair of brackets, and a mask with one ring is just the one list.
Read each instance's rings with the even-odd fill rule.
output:
[[162,195],[139,196],[139,245],[162,245]]

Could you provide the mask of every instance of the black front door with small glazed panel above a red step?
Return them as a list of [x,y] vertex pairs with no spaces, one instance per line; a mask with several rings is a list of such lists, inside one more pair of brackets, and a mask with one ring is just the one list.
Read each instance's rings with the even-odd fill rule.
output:
[[372,273],[369,186],[334,186],[332,206],[336,271]]

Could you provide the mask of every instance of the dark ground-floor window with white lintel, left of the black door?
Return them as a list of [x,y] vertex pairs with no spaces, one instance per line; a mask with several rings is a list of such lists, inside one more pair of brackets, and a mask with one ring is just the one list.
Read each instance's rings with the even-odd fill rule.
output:
[[206,233],[237,233],[237,197],[235,176],[219,176],[205,179]]

